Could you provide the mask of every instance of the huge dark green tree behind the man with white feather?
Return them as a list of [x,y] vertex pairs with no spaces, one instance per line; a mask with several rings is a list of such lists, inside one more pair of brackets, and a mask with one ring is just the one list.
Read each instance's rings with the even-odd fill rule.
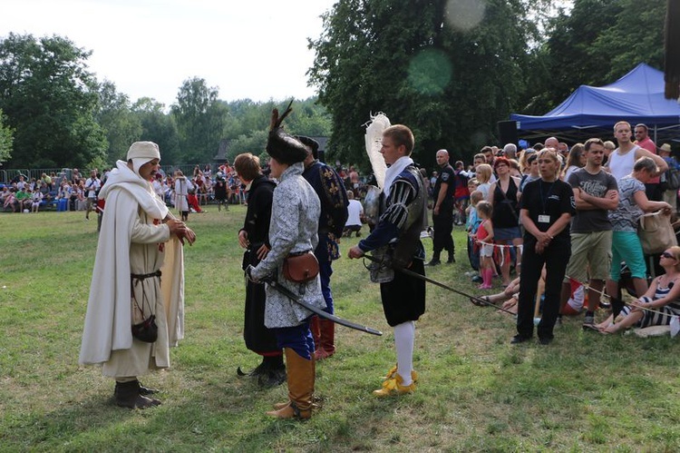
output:
[[416,135],[414,157],[434,164],[494,140],[523,92],[539,0],[339,0],[310,46],[310,81],[333,116],[332,149],[363,162],[364,124],[383,111]]

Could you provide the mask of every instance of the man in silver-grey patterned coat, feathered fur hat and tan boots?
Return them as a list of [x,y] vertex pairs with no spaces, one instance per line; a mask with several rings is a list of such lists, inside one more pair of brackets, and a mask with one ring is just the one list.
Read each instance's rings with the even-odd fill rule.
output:
[[[246,272],[253,281],[276,280],[277,285],[294,291],[302,300],[323,309],[325,301],[318,275],[306,282],[295,282],[287,280],[283,270],[287,258],[315,250],[321,213],[316,192],[302,177],[306,149],[279,127],[289,112],[290,106],[279,118],[277,110],[274,110],[267,141],[267,153],[272,158],[271,176],[279,181],[274,191],[269,225],[271,250],[257,267],[248,267]],[[265,288],[265,325],[275,330],[278,345],[284,348],[289,398],[267,415],[308,419],[311,417],[315,381],[315,345],[309,330],[312,312],[277,292],[272,285],[267,283]]]

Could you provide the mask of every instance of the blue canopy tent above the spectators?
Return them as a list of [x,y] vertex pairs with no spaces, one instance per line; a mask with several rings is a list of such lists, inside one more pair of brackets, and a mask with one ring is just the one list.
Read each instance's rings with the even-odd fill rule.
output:
[[656,143],[680,141],[680,104],[665,99],[664,73],[638,64],[614,84],[581,85],[566,101],[543,116],[510,114],[518,136],[532,139],[554,135],[565,141],[607,139],[614,124],[645,123]]

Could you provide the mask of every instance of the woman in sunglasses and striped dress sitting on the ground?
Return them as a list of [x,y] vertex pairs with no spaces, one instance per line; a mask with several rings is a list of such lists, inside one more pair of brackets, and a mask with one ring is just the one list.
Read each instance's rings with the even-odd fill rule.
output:
[[645,295],[624,307],[623,320],[614,323],[610,316],[597,328],[604,334],[636,325],[639,328],[664,326],[671,323],[674,316],[680,316],[680,247],[673,246],[661,253],[659,264],[665,273],[652,281]]

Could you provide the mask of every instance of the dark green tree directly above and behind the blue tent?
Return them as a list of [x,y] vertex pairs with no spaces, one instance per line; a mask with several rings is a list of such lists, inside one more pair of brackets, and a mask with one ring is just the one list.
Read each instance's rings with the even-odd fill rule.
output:
[[575,0],[550,20],[517,111],[548,113],[578,86],[611,84],[640,63],[663,68],[664,17],[657,0]]

